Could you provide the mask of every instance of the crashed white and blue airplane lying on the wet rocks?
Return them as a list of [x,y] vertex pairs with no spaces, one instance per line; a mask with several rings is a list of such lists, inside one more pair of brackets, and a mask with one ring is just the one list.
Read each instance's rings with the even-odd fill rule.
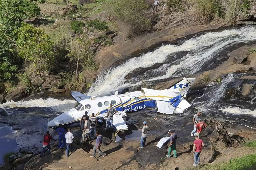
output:
[[90,116],[104,117],[110,108],[110,103],[117,111],[137,112],[146,108],[156,108],[163,114],[182,113],[191,104],[185,99],[187,91],[194,83],[195,78],[183,78],[165,90],[141,88],[140,91],[104,97],[91,97],[80,92],[72,91],[72,97],[78,102],[74,108],[62,113],[48,122],[49,127],[56,127],[60,123],[68,125],[80,121],[85,111]]

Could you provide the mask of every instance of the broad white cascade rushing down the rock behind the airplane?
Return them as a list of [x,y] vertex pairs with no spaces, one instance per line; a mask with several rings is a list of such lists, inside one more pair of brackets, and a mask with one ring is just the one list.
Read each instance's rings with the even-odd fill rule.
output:
[[[141,84],[142,80],[140,79],[133,79],[132,82],[125,83],[125,76],[140,67],[147,68],[156,63],[165,62],[169,54],[190,51],[180,60],[155,69],[155,75],[147,80],[161,80],[170,76],[193,74],[200,70],[209,59],[216,57],[214,55],[219,50],[225,50],[236,43],[248,43],[255,40],[256,28],[247,26],[222,32],[205,33],[199,37],[191,38],[181,45],[163,45],[153,52],[147,52],[139,57],[131,58],[117,67],[107,69],[98,76],[96,82],[89,89],[88,95],[104,95]],[[163,69],[165,74],[158,75],[159,69]]]

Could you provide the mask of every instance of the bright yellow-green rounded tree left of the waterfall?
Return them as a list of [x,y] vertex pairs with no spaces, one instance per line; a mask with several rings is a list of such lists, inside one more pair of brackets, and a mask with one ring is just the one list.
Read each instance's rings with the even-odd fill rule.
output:
[[37,74],[49,71],[54,62],[53,41],[43,30],[30,24],[23,24],[18,30],[17,46],[19,55],[35,64]]

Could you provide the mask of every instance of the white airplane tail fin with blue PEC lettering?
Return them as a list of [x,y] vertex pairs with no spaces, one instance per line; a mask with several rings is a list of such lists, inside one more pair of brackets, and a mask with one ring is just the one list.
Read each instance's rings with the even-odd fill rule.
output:
[[177,82],[173,86],[167,88],[168,94],[181,94],[186,97],[186,94],[191,87],[191,85],[195,82],[195,78],[183,78],[180,82]]

